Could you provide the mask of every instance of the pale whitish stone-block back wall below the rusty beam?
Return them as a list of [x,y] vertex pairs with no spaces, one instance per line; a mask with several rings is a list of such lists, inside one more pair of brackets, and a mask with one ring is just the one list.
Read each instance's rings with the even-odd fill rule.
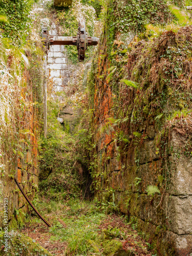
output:
[[[50,36],[58,35],[59,28],[53,23],[49,31]],[[74,46],[76,49],[76,47]],[[83,65],[74,65],[68,58],[65,46],[50,46],[47,58],[47,75],[49,84],[53,85],[53,97],[59,101],[60,112],[58,121],[65,129],[73,132],[77,124],[80,110],[70,103],[77,90],[77,75]],[[60,92],[60,93],[59,93]]]

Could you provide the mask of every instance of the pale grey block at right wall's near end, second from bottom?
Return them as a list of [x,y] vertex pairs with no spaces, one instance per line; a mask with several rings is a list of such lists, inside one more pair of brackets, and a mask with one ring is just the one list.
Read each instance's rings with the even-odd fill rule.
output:
[[170,230],[177,234],[192,233],[192,195],[172,196],[168,202]]

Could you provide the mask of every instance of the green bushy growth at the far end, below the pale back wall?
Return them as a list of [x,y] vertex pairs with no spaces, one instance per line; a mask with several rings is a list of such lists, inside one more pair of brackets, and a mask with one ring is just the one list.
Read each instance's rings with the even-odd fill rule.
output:
[[57,121],[59,106],[48,101],[48,135],[39,141],[39,190],[49,199],[78,197],[82,182],[81,166],[75,164],[75,138]]

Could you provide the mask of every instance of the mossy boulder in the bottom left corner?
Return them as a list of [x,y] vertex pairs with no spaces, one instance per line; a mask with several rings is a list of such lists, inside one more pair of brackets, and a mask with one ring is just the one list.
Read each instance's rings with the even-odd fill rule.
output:
[[[4,236],[2,234],[0,239],[0,248],[3,247]],[[31,238],[20,234],[19,232],[9,232],[8,251],[6,248],[0,249],[0,256],[3,255],[23,255],[23,256],[52,256],[47,250],[42,248],[39,244]]]

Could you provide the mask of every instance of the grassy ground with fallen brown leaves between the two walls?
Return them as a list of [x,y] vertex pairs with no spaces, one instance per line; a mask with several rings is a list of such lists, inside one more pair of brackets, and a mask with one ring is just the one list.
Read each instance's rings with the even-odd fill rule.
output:
[[106,215],[97,202],[38,200],[36,206],[49,218],[51,228],[33,217],[22,232],[42,247],[47,244],[53,255],[151,255],[131,223],[124,217]]

